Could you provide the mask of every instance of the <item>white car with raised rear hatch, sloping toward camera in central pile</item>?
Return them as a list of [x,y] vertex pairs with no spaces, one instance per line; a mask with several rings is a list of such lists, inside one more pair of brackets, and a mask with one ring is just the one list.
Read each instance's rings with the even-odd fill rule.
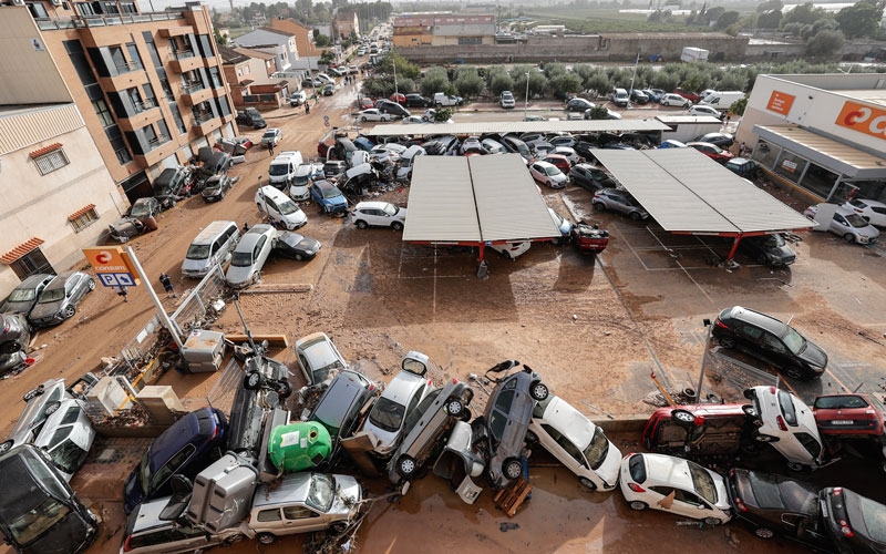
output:
[[400,445],[401,431],[406,418],[432,390],[427,372],[427,356],[411,351],[400,362],[400,372],[391,379],[381,397],[369,412],[363,431],[372,431],[378,439],[373,452],[387,458]]

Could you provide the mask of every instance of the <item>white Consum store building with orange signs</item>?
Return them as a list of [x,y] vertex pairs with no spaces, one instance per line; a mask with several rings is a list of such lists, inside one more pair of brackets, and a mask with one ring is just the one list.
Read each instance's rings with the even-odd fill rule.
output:
[[886,201],[886,75],[760,75],[736,141],[812,201]]

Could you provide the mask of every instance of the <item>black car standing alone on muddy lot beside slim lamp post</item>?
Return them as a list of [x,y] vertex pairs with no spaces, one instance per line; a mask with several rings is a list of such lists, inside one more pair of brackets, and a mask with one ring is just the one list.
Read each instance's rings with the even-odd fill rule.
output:
[[741,306],[721,311],[711,335],[723,348],[739,348],[792,379],[818,378],[827,367],[827,353],[793,327]]

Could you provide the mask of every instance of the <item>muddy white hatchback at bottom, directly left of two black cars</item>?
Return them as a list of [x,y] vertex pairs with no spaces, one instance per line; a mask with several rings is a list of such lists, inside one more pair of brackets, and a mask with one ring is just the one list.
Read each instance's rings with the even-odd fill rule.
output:
[[621,460],[621,494],[631,510],[661,510],[719,525],[732,519],[725,481],[696,462],[664,454]]

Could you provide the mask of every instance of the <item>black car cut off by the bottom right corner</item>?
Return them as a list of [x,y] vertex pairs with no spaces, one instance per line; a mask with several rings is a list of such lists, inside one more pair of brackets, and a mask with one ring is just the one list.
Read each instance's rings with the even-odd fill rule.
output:
[[824,489],[818,499],[839,554],[886,552],[886,506],[838,486]]

